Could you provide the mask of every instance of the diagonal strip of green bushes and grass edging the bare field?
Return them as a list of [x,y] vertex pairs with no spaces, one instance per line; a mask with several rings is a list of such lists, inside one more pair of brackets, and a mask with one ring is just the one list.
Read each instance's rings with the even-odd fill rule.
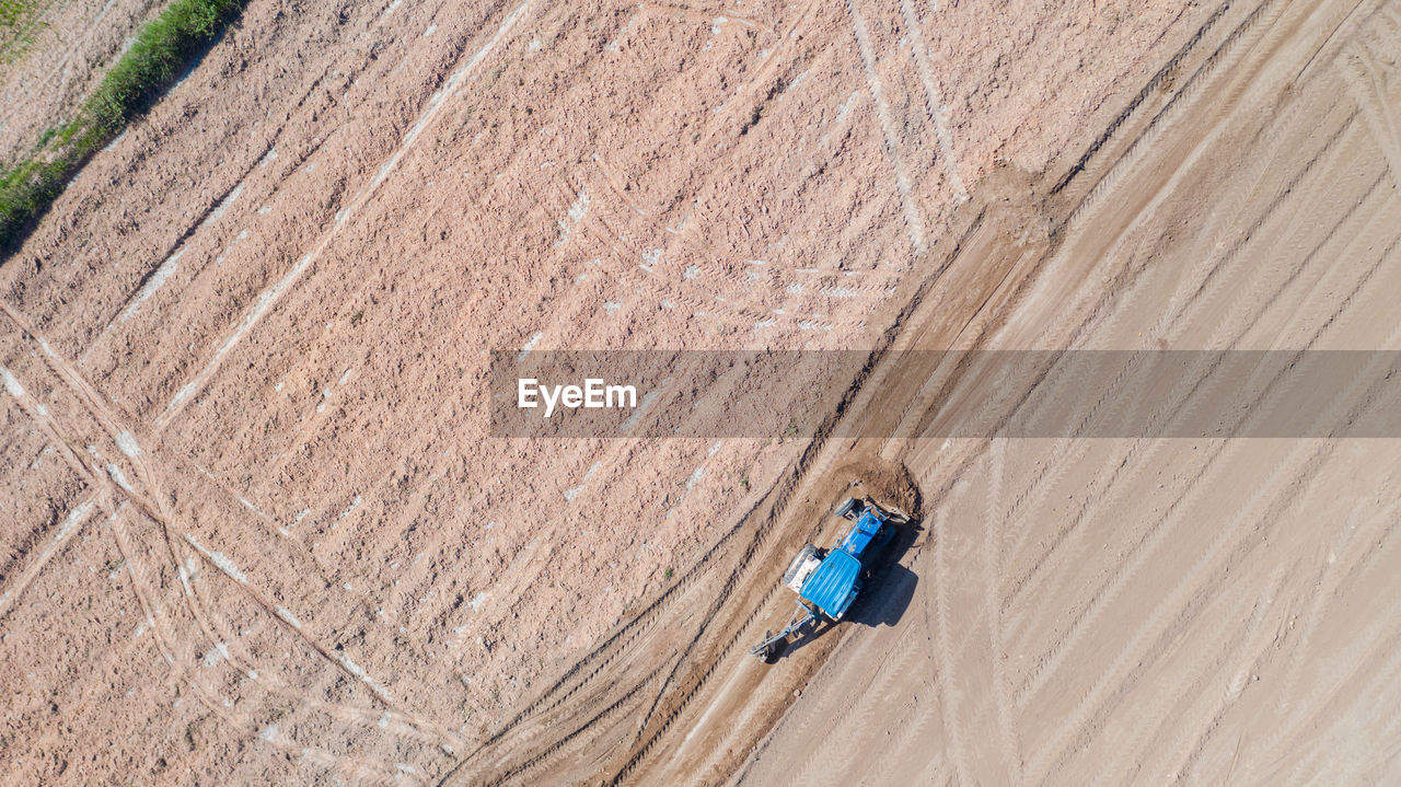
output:
[[[77,118],[43,133],[34,155],[0,171],[0,253],[20,245],[69,178],[151,106],[181,71],[242,10],[247,0],[174,0],[146,24],[132,48],[78,108]],[[0,18],[25,0],[0,0]],[[22,14],[22,8],[15,11]]]

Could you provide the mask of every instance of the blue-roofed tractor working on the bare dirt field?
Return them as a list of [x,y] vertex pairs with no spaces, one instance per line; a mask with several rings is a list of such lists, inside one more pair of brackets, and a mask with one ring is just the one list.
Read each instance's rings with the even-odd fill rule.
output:
[[908,520],[898,511],[881,508],[869,497],[848,497],[834,514],[853,525],[835,549],[818,549],[808,543],[793,557],[783,573],[783,585],[797,594],[797,611],[783,630],[776,634],[768,632],[762,643],[750,648],[751,654],[772,661],[787,637],[804,626],[822,619],[832,623],[841,620],[862,591],[871,564],[894,538],[895,520]]

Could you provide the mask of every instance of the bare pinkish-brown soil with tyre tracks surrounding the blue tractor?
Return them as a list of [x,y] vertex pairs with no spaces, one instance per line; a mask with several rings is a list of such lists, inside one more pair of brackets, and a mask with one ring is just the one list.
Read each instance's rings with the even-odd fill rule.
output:
[[[1390,441],[490,440],[483,381],[1394,347],[1398,36],[1387,3],[252,3],[0,267],[6,776],[1394,779]],[[940,374],[877,363],[850,417],[922,423]],[[899,570],[745,655],[899,466]]]

